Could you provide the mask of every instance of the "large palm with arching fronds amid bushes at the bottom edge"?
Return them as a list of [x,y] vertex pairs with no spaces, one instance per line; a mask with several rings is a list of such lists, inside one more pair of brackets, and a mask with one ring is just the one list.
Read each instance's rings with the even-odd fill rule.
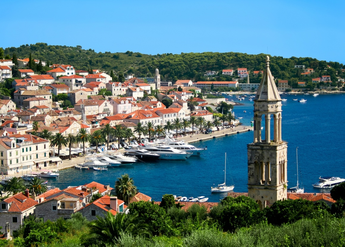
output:
[[145,225],[137,224],[138,214],[119,212],[114,216],[108,211],[104,217],[96,217],[89,223],[90,235],[83,238],[84,246],[117,246],[121,233],[152,235]]

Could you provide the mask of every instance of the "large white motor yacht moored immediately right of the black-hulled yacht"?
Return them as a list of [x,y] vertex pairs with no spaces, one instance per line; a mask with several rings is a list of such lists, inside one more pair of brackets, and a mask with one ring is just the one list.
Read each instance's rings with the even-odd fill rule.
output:
[[171,146],[157,145],[155,143],[147,143],[142,148],[152,153],[159,154],[159,159],[161,160],[186,160],[193,154],[191,152],[173,149]]

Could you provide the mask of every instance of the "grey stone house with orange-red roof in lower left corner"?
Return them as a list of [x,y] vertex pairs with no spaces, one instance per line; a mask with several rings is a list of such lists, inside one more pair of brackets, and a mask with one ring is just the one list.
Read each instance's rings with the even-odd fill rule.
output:
[[23,221],[30,215],[34,215],[34,210],[38,202],[30,198],[29,190],[18,193],[0,202],[0,226],[4,229],[6,222],[10,223],[10,229],[18,230]]

